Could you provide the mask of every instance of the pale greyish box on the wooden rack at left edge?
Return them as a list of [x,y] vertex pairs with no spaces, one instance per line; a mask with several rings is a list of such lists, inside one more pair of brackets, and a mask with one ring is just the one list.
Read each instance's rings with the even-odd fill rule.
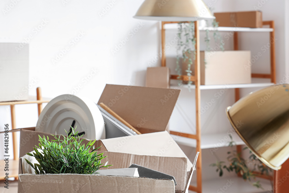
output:
[[29,45],[19,45],[0,43],[0,102],[28,100]]

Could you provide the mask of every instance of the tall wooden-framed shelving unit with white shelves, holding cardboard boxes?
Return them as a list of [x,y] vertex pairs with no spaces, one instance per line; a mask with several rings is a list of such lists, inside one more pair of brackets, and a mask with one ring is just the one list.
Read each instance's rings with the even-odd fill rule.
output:
[[[179,22],[161,22],[161,41],[162,41],[162,66],[166,66],[166,52],[165,52],[165,32],[166,30],[175,30],[177,29],[177,23]],[[200,152],[199,158],[197,160],[197,184],[195,186],[190,185],[189,190],[192,190],[194,192],[198,193],[207,193],[207,192],[216,192],[217,190],[207,190],[210,189],[207,186],[205,186],[205,183],[209,183],[210,186],[220,185],[222,180],[224,179],[218,179],[213,180],[210,182],[202,182],[202,149],[206,148],[213,148],[215,144],[217,144],[218,136],[225,136],[224,133],[220,134],[214,134],[214,135],[201,135],[201,114],[200,112],[200,102],[201,102],[201,90],[206,89],[223,89],[224,85],[200,85],[200,40],[199,40],[199,31],[201,30],[218,30],[218,31],[230,31],[234,32],[234,50],[238,50],[238,33],[239,32],[269,32],[270,33],[270,40],[275,39],[275,27],[274,27],[274,21],[263,21],[263,25],[267,25],[268,27],[263,28],[247,28],[247,27],[199,27],[199,22],[195,21],[195,37],[196,37],[196,58],[194,62],[194,71],[195,74],[190,77],[190,80],[194,82],[194,85],[190,86],[191,89],[195,89],[195,106],[196,106],[196,133],[195,134],[188,134],[188,133],[180,133],[176,131],[170,131],[171,135],[177,135],[177,143],[189,147],[196,148],[196,151]],[[252,83],[252,84],[228,84],[226,85],[226,88],[229,89],[235,89],[235,101],[238,101],[240,99],[240,88],[254,88],[254,87],[266,87],[273,84],[276,84],[276,72],[275,72],[275,43],[271,44],[270,47],[270,68],[271,71],[269,74],[260,74],[260,73],[252,73],[252,78],[269,78],[271,80],[271,83]],[[173,80],[177,80],[178,75],[171,75],[170,78]],[[181,76],[181,80],[188,80],[188,76],[183,75]],[[171,85],[171,88],[176,88],[177,85]],[[181,86],[183,88],[188,87],[187,85]],[[237,151],[241,152],[241,145],[244,143],[238,136],[234,136],[234,140],[237,143]],[[228,141],[229,142],[229,141]],[[228,143],[224,142],[221,144],[221,147],[227,146]],[[266,180],[266,179],[263,179]],[[226,180],[225,180],[226,181]],[[246,187],[248,187],[247,183],[243,183],[243,179],[236,177],[236,180],[238,183],[235,183],[234,187],[236,187],[236,190],[234,190],[233,186],[231,187],[231,190],[229,192],[262,192],[262,190],[256,190],[256,188],[251,187],[247,188],[248,190],[245,190]],[[268,183],[268,181],[267,181]],[[271,185],[270,185],[271,188]],[[244,190],[244,191],[243,191]]]

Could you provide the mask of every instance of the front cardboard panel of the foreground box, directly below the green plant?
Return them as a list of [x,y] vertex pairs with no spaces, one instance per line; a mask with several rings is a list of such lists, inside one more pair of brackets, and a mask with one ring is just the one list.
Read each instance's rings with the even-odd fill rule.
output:
[[140,177],[85,174],[20,174],[19,181],[25,192],[175,193],[173,180]]

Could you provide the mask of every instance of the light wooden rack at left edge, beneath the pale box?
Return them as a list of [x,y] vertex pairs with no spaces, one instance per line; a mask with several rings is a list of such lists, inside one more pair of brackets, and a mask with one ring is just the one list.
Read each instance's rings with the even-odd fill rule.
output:
[[[11,109],[11,125],[9,126],[9,129],[15,129],[16,128],[16,115],[15,115],[15,105],[17,104],[37,104],[38,107],[38,116],[40,115],[42,111],[42,103],[47,103],[50,100],[43,100],[41,95],[41,88],[38,87],[36,89],[36,100],[27,100],[27,101],[11,101],[11,102],[0,102],[0,106],[2,105],[10,105]],[[1,134],[0,134],[1,135]],[[3,135],[3,134],[2,134]],[[13,143],[13,157],[14,159],[9,159],[9,177],[15,177],[15,179],[18,179],[18,167],[19,167],[19,155],[18,155],[18,144],[17,144],[17,138],[16,138],[16,132],[12,132],[12,143]],[[10,148],[9,148],[10,151]],[[5,161],[0,161],[0,179],[4,179],[5,172]]]

